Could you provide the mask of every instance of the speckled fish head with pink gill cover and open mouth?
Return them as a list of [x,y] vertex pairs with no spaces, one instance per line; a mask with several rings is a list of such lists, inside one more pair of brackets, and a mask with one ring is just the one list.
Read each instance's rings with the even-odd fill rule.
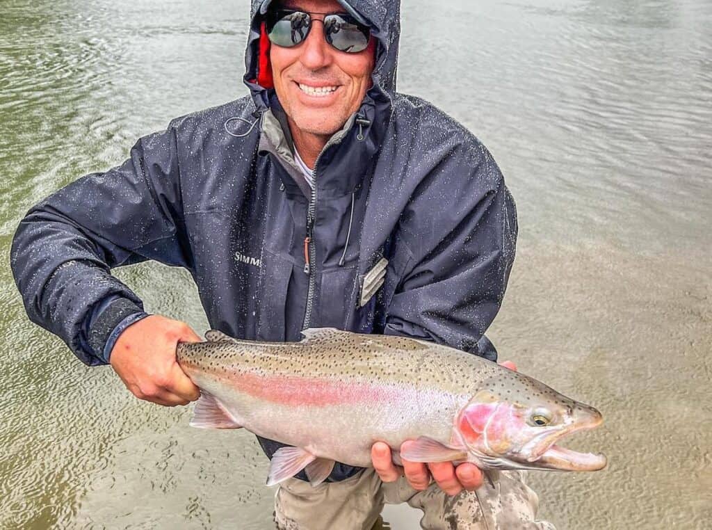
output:
[[560,438],[601,425],[598,410],[525,375],[495,375],[456,417],[455,432],[473,462],[493,469],[596,471],[602,454],[556,445]]

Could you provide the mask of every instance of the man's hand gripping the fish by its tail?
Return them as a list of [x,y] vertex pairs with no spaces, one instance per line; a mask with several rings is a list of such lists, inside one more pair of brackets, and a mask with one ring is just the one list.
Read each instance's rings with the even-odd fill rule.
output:
[[110,363],[133,395],[167,407],[200,397],[176,361],[179,342],[200,342],[184,322],[151,315],[126,328],[111,350]]

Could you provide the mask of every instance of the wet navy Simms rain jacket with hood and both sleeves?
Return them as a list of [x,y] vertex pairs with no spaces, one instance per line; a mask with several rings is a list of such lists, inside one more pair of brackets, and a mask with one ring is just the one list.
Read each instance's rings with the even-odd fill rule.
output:
[[[476,137],[395,91],[398,2],[341,0],[372,28],[377,61],[360,109],[318,159],[313,192],[274,91],[257,81],[266,4],[251,6],[251,96],[173,120],[123,165],[28,212],[11,265],[29,318],[104,364],[112,331],[143,311],[110,271],[152,259],[188,269],[211,327],[231,336],[298,341],[303,328],[333,326],[495,360],[483,333],[514,259],[515,206]],[[270,456],[281,447],[260,441]],[[355,471],[337,465],[330,479]]]

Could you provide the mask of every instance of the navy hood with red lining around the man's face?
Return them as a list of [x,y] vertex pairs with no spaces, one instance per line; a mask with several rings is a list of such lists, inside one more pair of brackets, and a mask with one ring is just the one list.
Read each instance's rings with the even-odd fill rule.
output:
[[[376,63],[372,73],[373,86],[365,97],[365,103],[390,102],[396,90],[396,67],[400,37],[399,0],[338,0],[345,11],[367,24],[377,39]],[[266,54],[269,50],[267,37],[263,36],[262,20],[272,0],[252,0],[250,33],[245,53],[244,82],[251,91],[258,111],[269,108],[268,83],[271,76],[265,75],[269,68]],[[370,101],[369,101],[370,100]]]

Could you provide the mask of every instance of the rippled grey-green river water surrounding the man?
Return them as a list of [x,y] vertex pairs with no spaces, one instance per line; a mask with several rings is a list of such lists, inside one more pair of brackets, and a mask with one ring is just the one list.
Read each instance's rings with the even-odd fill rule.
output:
[[[435,7],[436,6],[436,7]],[[596,474],[530,474],[560,529],[712,521],[712,3],[404,0],[399,90],[485,142],[518,202],[501,358],[606,417]],[[0,0],[0,527],[271,527],[246,432],[187,427],[26,319],[28,207],[246,93],[246,1]],[[116,272],[207,324],[189,276]],[[388,509],[394,528],[414,511]]]

